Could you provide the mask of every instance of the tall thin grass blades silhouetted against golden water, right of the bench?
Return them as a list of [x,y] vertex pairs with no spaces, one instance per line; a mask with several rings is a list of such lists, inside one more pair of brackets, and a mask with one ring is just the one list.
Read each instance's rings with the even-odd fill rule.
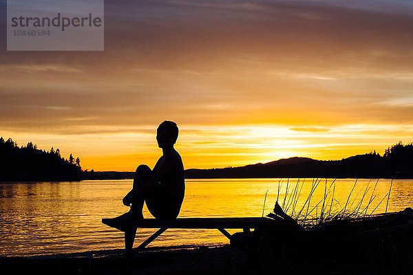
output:
[[[291,187],[290,179],[287,179],[284,198],[280,195],[283,179],[279,179],[278,181],[277,203],[282,201],[282,204],[279,204],[282,210],[305,228],[321,225],[322,223],[337,219],[360,219],[372,216],[386,198],[385,212],[387,213],[388,211],[393,181],[391,181],[390,188],[386,195],[383,198],[378,198],[374,192],[377,189],[379,179],[377,179],[373,188],[371,186],[372,179],[370,179],[366,186],[360,188],[357,194],[353,195],[354,190],[356,190],[359,184],[358,179],[355,179],[346,198],[346,203],[343,205],[335,198],[337,179],[324,179],[324,184],[320,184],[321,181],[322,179],[318,178],[311,181],[310,191],[301,206],[299,206],[299,201],[302,201],[300,200],[301,192],[304,184],[308,184],[308,181],[306,183],[305,179],[302,181],[301,179],[297,179],[295,187]],[[321,199],[314,201],[314,194],[317,188],[324,188],[324,190]]]

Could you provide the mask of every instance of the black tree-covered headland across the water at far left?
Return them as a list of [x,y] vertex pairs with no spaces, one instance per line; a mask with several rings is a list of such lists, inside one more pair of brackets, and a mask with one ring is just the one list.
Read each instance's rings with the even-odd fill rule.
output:
[[59,149],[38,149],[29,142],[17,146],[11,138],[0,137],[0,181],[78,181],[82,179],[81,160],[61,157]]

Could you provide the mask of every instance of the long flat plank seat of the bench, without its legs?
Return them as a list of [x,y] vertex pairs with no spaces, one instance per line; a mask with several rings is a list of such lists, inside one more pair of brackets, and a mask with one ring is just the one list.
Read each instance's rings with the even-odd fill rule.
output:
[[138,228],[281,228],[290,225],[284,221],[275,221],[266,217],[234,217],[234,218],[178,218],[173,221],[160,221],[158,219],[142,219],[138,221],[119,221],[116,219],[102,219],[102,222],[111,227],[118,225],[135,225]]

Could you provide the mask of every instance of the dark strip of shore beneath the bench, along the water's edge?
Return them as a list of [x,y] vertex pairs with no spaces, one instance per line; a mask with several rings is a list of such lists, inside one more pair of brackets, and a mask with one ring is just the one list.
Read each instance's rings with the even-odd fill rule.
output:
[[[245,254],[229,245],[148,248],[134,256],[134,274],[241,274]],[[122,250],[0,257],[7,274],[120,274]]]

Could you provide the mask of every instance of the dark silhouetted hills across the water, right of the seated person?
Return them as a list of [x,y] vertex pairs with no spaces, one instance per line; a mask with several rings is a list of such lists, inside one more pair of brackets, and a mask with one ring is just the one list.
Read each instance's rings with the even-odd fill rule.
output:
[[332,177],[332,178],[413,178],[413,144],[401,142],[380,156],[375,151],[341,160],[316,160],[290,157],[265,164],[240,167],[188,169],[187,178],[262,178],[262,177]]

